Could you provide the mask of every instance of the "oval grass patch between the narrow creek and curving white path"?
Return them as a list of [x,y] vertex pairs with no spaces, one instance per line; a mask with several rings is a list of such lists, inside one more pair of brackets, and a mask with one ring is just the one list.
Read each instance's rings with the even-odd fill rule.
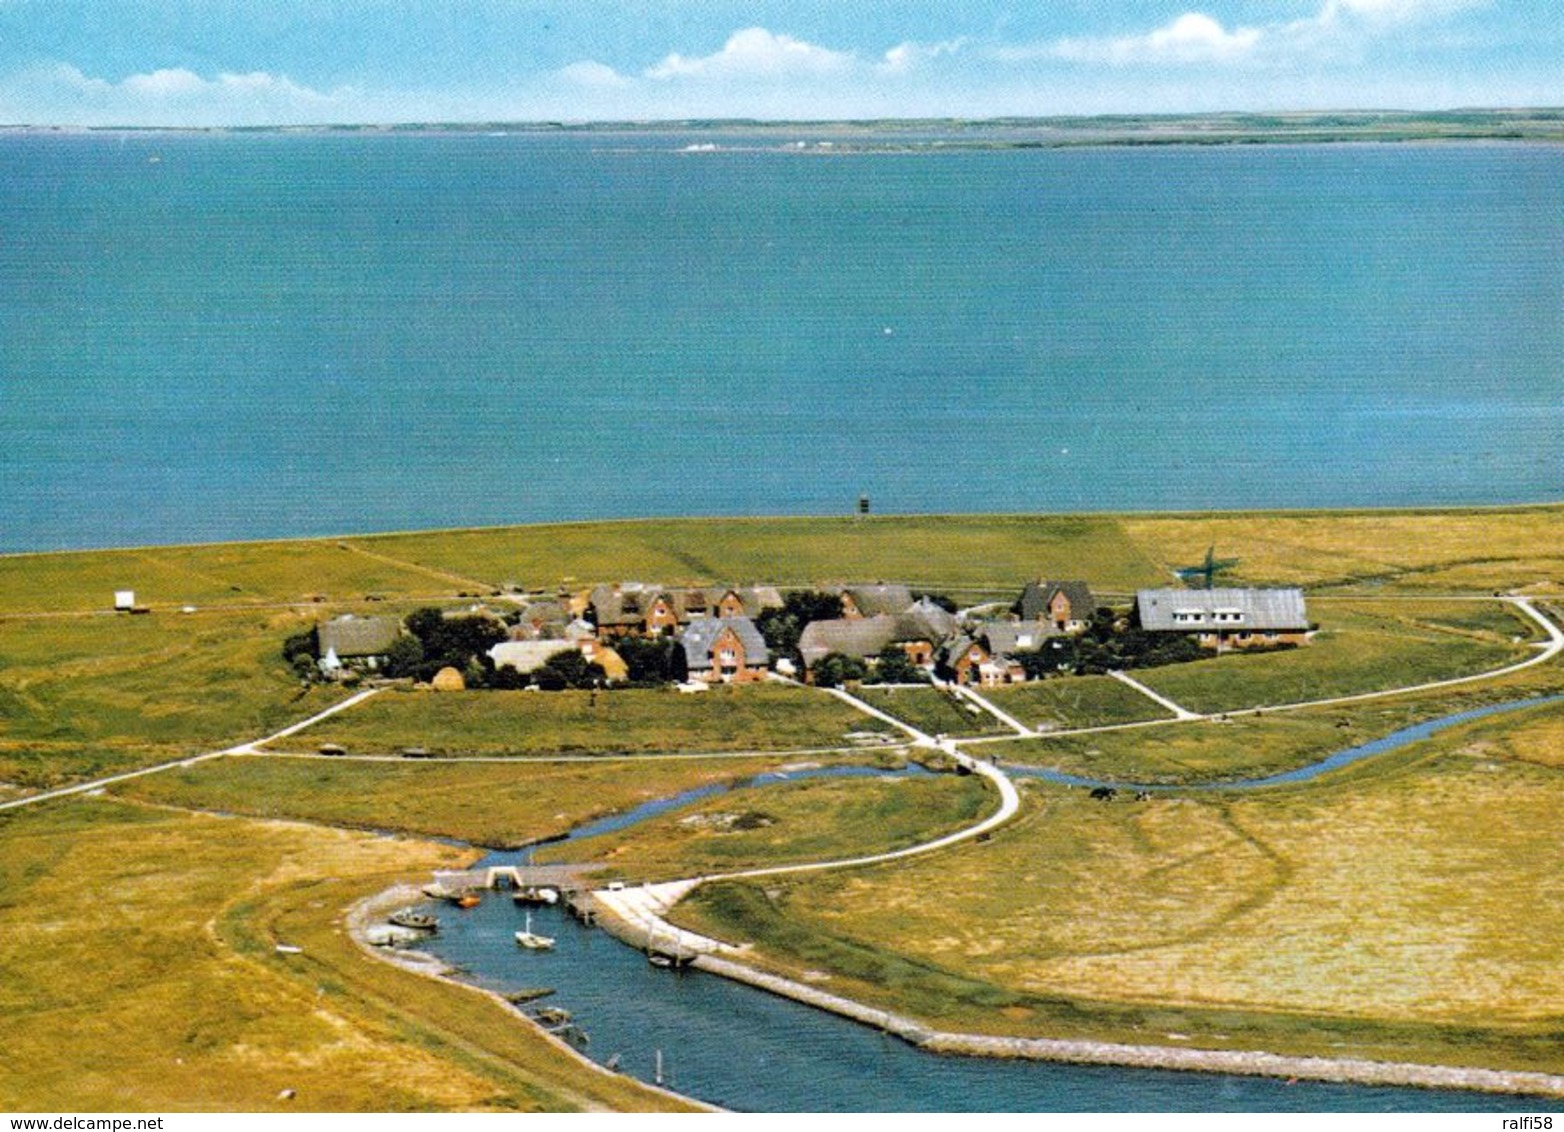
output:
[[604,877],[669,880],[904,849],[976,822],[998,804],[978,776],[804,779],[734,790],[569,844],[538,862],[602,862]]

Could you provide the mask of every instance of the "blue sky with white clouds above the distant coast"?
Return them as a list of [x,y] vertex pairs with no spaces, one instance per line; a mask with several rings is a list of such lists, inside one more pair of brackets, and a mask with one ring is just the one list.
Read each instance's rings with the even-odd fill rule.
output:
[[0,0],[0,124],[1561,105],[1559,0]]

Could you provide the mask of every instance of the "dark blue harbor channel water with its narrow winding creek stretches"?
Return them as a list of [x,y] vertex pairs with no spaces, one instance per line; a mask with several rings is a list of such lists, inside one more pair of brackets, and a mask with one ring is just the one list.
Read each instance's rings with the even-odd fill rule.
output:
[[[1354,757],[1390,750],[1442,727],[1547,700],[1503,704],[1419,724]],[[1392,741],[1394,740],[1394,741]],[[1373,750],[1367,747],[1372,746]],[[1340,752],[1331,766],[1340,766]],[[1325,763],[1315,765],[1323,772]],[[1306,768],[1311,769],[1311,768]],[[924,774],[921,768],[818,768],[757,776],[760,786],[821,776]],[[1312,777],[1292,772],[1300,780]],[[1284,776],[1228,783],[1257,786]],[[647,802],[579,827],[569,840],[626,829],[657,813],[730,786]],[[494,854],[485,865],[511,865],[524,854]],[[1564,1101],[1490,1096],[1458,1090],[1336,1085],[1117,1066],[940,1057],[874,1029],[701,971],[651,966],[641,952],[563,910],[532,912],[533,929],[555,937],[554,951],[522,951],[515,932],[522,912],[504,893],[457,910],[435,905],[441,930],[422,948],[460,976],[499,993],[552,988],[536,1005],[569,1010],[577,1048],[599,1063],[663,1084],[688,1096],[752,1112],[1564,1112]],[[519,1024],[519,1023],[518,1023]],[[585,1035],[582,1038],[580,1035]],[[1148,1033],[1148,1043],[1176,1044]],[[1345,1054],[1347,1051],[1343,1051]]]

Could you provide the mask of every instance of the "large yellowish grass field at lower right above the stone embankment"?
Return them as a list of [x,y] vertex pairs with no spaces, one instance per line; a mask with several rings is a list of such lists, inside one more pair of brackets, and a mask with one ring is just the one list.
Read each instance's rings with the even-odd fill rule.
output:
[[1558,1073],[1561,727],[1480,721],[1247,796],[1028,783],[984,844],[701,890],[680,922],[949,1029]]

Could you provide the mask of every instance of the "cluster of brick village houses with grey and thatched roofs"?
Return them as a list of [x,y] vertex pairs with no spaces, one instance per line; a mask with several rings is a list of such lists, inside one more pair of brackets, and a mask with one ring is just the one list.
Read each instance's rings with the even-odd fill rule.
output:
[[[568,654],[579,654],[596,666],[593,672],[601,671],[594,683],[626,683],[632,674],[619,652],[637,638],[677,643],[676,680],[685,691],[768,679],[834,683],[830,677],[818,679],[827,671],[873,680],[876,668],[896,654],[906,657],[915,679],[992,688],[1071,671],[1068,661],[1037,658],[1085,633],[1106,608],[1084,580],[1031,582],[1010,604],[970,610],[885,582],[829,586],[815,591],[813,599],[790,602],[774,586],[619,582],[576,593],[510,596],[515,608],[504,613],[474,605],[443,616],[493,622],[493,635],[504,639],[488,647],[483,668],[510,669],[507,686],[529,686],[529,677]],[[838,614],[801,625],[795,618],[791,632],[779,641],[776,614],[796,608]],[[1146,639],[1198,643],[1198,654],[1298,646],[1311,633],[1303,591],[1297,588],[1142,589],[1128,616],[1115,616],[1117,629],[1132,625]],[[386,671],[386,658],[407,627],[396,616],[344,614],[321,622],[316,632],[321,675],[360,679]],[[1060,649],[1060,655],[1071,654]],[[909,672],[907,666],[896,668]],[[430,683],[439,691],[466,686],[454,666],[433,674]]]

